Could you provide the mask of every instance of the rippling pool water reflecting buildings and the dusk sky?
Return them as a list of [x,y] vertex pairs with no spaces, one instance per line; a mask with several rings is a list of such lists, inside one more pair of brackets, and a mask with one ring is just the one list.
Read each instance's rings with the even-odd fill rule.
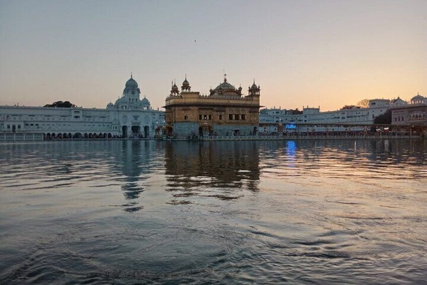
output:
[[422,283],[427,141],[0,144],[0,283]]

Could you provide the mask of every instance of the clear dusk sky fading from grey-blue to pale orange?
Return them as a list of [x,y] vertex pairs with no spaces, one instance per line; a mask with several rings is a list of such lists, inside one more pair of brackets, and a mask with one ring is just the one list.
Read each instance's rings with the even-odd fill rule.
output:
[[157,108],[224,70],[267,107],[427,95],[427,1],[0,0],[0,105],[104,108],[132,72]]

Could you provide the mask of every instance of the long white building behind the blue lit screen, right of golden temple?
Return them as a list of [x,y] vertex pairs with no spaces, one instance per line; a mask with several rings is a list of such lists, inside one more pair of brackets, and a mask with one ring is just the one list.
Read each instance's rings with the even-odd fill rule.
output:
[[[382,115],[390,108],[389,99],[369,100],[369,107],[346,107],[334,111],[320,111],[320,107],[303,107],[303,110],[287,110],[280,108],[266,108],[260,111],[260,132],[276,133],[287,130],[324,131],[325,127],[316,125],[336,125],[335,130],[345,129],[339,125],[372,125],[375,117]],[[292,128],[290,127],[292,126]],[[292,130],[291,130],[292,129]]]

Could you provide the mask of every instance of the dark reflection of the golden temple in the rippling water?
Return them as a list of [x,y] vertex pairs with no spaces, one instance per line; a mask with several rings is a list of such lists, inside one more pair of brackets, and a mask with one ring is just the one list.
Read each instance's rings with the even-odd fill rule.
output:
[[169,143],[165,162],[170,187],[257,190],[259,144],[255,141]]

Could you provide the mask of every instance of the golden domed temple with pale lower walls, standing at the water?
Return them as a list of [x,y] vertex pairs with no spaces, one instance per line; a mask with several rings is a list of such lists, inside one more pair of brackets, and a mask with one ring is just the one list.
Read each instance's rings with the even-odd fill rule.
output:
[[191,135],[250,135],[258,132],[260,87],[254,83],[248,88],[248,95],[242,94],[242,87],[235,88],[224,81],[209,95],[191,91],[185,77],[181,92],[172,84],[164,108],[166,132],[178,138]]

